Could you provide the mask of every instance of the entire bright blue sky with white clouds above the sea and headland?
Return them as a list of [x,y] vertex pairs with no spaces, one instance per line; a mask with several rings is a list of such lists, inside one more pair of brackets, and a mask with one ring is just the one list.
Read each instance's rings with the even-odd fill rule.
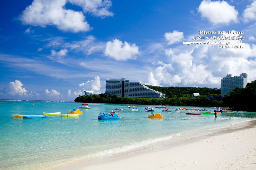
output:
[[[0,13],[0,99],[73,101],[104,93],[106,79],[211,88],[227,74],[256,79],[256,1],[1,1]],[[183,44],[220,36],[200,30],[243,36],[243,48]]]

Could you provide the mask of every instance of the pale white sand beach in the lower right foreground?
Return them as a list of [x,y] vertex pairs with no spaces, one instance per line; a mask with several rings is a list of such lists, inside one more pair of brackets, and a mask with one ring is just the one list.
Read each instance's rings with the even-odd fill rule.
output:
[[161,142],[161,148],[159,145],[138,148],[54,169],[256,169],[255,141],[256,120],[250,120],[173,145]]

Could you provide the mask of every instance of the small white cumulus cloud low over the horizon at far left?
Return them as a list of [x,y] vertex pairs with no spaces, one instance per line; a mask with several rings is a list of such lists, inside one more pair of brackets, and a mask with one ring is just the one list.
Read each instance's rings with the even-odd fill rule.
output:
[[28,92],[25,88],[22,88],[23,84],[19,80],[15,80],[15,82],[10,82],[9,86],[4,88],[5,94],[11,94],[13,96],[19,95],[19,96],[33,96],[33,95],[39,95],[36,92]]

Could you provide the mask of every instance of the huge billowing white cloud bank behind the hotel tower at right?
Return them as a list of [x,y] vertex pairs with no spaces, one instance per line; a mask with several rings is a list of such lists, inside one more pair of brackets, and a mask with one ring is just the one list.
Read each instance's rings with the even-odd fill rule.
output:
[[[233,32],[234,30],[232,30]],[[233,36],[225,33],[224,36]],[[252,38],[251,38],[252,39]],[[232,40],[231,40],[232,42]],[[148,75],[151,85],[196,86],[220,88],[220,79],[227,74],[248,73],[248,82],[256,79],[256,45],[243,48],[219,48],[219,45],[196,45],[168,48],[164,61]]]

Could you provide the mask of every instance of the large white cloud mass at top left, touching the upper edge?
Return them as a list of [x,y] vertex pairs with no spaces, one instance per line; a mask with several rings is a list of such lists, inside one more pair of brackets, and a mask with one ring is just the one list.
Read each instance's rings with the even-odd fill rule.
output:
[[71,3],[81,6],[84,12],[95,16],[113,16],[108,8],[112,5],[109,0],[34,0],[31,5],[19,16],[24,25],[31,26],[56,26],[64,32],[86,32],[91,30],[89,23],[85,20],[82,11],[74,11],[65,8],[65,4]]

